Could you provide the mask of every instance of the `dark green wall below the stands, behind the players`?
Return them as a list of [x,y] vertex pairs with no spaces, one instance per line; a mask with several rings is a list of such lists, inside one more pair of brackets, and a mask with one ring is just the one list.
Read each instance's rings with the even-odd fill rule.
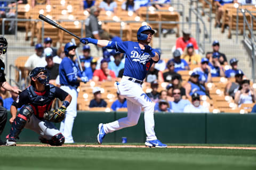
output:
[[[96,142],[98,124],[125,117],[124,112],[78,112],[73,128],[75,142]],[[106,135],[104,142],[145,142],[144,114],[136,126]],[[9,113],[10,118],[10,113]],[[59,128],[60,123],[55,124]],[[10,131],[7,122],[2,139]],[[256,114],[155,113],[155,131],[164,143],[256,143]],[[38,142],[38,134],[24,129],[20,142]]]

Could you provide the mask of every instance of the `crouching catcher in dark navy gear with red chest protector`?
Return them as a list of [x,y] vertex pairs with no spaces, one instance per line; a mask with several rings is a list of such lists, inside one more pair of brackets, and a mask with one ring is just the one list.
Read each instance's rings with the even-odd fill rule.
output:
[[[44,67],[36,67],[30,74],[31,86],[23,90],[11,106],[11,131],[7,135],[6,146],[16,146],[16,140],[23,128],[39,134],[39,140],[51,146],[61,146],[65,138],[51,122],[61,122],[71,102],[71,96],[58,87],[49,84],[49,72]],[[59,98],[62,106],[51,111],[52,101]],[[22,108],[17,115],[17,108]]]

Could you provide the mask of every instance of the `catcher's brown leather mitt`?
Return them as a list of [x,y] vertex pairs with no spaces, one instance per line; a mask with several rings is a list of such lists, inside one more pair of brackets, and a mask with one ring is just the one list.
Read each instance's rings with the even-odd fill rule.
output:
[[55,123],[61,122],[65,118],[66,109],[65,106],[61,106],[57,110],[45,112],[44,119]]

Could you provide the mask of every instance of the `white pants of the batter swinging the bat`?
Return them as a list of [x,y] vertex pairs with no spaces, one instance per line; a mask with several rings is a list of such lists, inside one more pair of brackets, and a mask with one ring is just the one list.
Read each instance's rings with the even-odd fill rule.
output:
[[122,78],[119,83],[118,90],[120,95],[127,99],[127,117],[120,118],[117,121],[107,123],[103,125],[104,131],[110,133],[119,129],[123,129],[129,126],[134,126],[138,123],[141,107],[144,109],[145,131],[147,134],[146,140],[156,140],[154,131],[154,103],[142,90],[142,86],[139,83],[127,80],[129,77]]

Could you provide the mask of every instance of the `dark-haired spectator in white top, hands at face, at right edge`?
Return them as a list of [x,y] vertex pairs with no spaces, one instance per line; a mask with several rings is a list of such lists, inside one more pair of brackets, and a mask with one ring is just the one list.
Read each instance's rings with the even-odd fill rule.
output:
[[255,99],[255,91],[250,87],[250,80],[243,80],[239,89],[236,91],[234,99],[235,103],[240,107],[241,104],[254,103]]

